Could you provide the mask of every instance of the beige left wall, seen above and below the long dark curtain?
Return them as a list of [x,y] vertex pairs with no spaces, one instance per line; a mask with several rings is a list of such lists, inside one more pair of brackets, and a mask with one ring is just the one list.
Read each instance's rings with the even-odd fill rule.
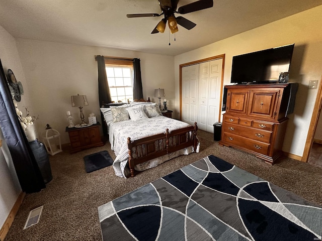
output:
[[[5,72],[8,68],[12,69],[17,79],[25,83],[24,73],[21,67],[15,39],[0,26],[0,58]],[[26,88],[28,91],[28,88]],[[22,103],[25,104],[26,102]],[[0,150],[0,229],[7,219],[12,207],[14,206],[21,187],[18,181],[16,170],[0,130],[0,139],[3,146]]]

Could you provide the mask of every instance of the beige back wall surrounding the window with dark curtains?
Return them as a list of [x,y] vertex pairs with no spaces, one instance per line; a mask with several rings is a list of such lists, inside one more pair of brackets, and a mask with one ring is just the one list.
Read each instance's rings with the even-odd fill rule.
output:
[[62,143],[69,143],[65,133],[66,111],[71,111],[76,124],[81,122],[79,109],[71,107],[70,102],[70,96],[77,93],[88,97],[89,106],[83,108],[86,119],[94,112],[101,122],[95,55],[139,58],[144,98],[158,101],[154,98],[154,89],[164,88],[169,108],[174,106],[173,56],[24,39],[16,41],[31,90],[33,114],[39,114],[36,121],[39,135],[48,123],[60,133]]

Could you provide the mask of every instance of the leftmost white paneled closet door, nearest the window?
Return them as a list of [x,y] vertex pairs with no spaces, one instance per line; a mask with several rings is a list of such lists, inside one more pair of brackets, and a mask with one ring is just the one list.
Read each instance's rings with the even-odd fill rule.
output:
[[182,121],[194,125],[198,114],[199,66],[182,68]]

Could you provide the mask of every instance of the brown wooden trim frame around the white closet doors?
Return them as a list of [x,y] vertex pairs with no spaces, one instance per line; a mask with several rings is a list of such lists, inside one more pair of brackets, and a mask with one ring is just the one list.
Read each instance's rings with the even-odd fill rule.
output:
[[189,66],[189,65],[193,65],[193,64],[200,64],[203,62],[208,62],[211,60],[216,60],[216,59],[222,59],[222,72],[221,72],[221,83],[220,83],[220,103],[219,103],[219,118],[218,118],[218,122],[220,122],[220,116],[221,116],[221,106],[222,106],[222,89],[223,89],[223,73],[224,73],[224,65],[225,65],[225,54],[221,54],[221,55],[217,55],[217,56],[213,56],[213,57],[209,57],[209,58],[205,58],[205,59],[200,59],[200,60],[196,60],[193,62],[189,62],[189,63],[184,63],[184,64],[180,64],[179,65],[179,92],[180,92],[180,120],[182,120],[182,68]]

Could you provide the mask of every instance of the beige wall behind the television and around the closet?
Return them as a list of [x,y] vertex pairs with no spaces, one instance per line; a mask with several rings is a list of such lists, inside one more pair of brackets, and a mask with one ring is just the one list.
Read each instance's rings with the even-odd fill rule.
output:
[[[302,156],[317,89],[309,80],[322,75],[322,6],[235,35],[175,57],[176,110],[179,111],[179,65],[225,54],[224,85],[230,84],[232,56],[295,43],[290,82],[298,82],[295,111],[289,115],[283,151]],[[320,84],[320,83],[318,83]]]

